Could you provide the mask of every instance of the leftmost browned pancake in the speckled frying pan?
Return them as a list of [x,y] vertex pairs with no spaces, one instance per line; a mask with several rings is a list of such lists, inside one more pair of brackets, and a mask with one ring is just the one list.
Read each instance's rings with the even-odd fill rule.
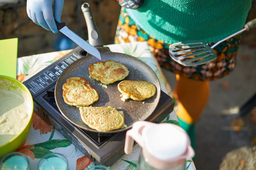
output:
[[98,92],[82,77],[70,77],[62,86],[63,99],[71,106],[88,106],[98,101]]

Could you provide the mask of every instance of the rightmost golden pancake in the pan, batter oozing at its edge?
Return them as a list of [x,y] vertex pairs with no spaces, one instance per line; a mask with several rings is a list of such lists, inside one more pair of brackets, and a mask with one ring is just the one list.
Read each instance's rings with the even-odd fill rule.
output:
[[122,93],[121,100],[126,101],[131,98],[141,101],[153,97],[156,92],[155,85],[147,81],[123,80],[117,85],[119,92]]

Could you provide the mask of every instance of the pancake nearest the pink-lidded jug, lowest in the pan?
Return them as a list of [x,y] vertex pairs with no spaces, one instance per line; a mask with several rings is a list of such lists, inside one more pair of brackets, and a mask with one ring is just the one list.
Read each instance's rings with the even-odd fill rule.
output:
[[124,124],[124,116],[116,108],[108,107],[79,107],[82,121],[96,131],[112,131]]

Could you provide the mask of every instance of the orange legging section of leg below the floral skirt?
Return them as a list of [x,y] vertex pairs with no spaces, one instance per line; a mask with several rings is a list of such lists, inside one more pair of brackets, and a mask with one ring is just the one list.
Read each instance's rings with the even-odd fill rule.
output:
[[188,79],[178,74],[176,74],[176,80],[173,94],[178,104],[176,115],[187,124],[193,124],[199,119],[207,104],[210,83]]

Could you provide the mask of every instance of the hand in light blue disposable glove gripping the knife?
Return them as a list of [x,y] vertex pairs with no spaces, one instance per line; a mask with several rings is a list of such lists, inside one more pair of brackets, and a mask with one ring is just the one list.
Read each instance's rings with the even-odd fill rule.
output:
[[37,25],[57,33],[55,20],[60,22],[63,5],[64,0],[27,0],[27,15]]

